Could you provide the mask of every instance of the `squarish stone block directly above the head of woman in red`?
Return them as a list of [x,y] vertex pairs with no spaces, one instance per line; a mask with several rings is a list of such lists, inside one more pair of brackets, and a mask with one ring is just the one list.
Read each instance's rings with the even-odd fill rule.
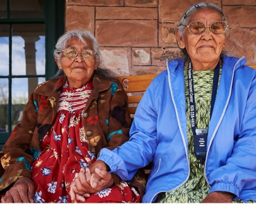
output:
[[95,8],[91,6],[67,6],[66,31],[83,28],[94,33]]

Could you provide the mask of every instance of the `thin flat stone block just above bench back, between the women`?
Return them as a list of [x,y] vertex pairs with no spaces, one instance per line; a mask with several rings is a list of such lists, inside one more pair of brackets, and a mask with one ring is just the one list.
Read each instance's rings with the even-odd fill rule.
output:
[[129,75],[150,75],[161,73],[166,66],[132,66]]

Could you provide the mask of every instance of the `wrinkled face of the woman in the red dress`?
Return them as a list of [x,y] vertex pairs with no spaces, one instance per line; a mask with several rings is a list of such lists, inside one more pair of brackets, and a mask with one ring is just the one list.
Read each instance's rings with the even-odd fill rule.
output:
[[[77,38],[72,38],[67,42],[67,48],[72,48],[77,50],[77,52],[82,52],[83,50],[92,50],[92,43],[85,40],[86,45],[79,41]],[[65,75],[68,78],[68,84],[70,87],[79,88],[81,85],[86,84],[93,75],[97,65],[95,64],[95,57],[92,59],[84,59],[81,54],[77,54],[75,58],[69,59],[65,55],[61,55],[61,61],[58,62],[55,59],[58,67],[63,69]]]

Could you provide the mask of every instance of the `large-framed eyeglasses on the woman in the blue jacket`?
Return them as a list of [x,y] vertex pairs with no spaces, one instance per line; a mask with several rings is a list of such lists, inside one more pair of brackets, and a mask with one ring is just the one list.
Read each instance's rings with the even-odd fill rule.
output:
[[188,31],[191,34],[201,34],[205,31],[206,27],[209,27],[210,31],[212,31],[214,34],[223,34],[228,29],[228,24],[223,21],[215,21],[212,22],[211,25],[205,25],[200,21],[193,21],[189,25],[184,26],[188,27]]

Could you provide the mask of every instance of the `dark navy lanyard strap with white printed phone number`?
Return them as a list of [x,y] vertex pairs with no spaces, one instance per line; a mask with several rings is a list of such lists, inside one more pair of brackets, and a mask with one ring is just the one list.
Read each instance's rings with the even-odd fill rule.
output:
[[[219,75],[220,75],[220,62],[218,62],[218,65],[214,69],[210,119],[212,116],[212,110],[213,110],[213,106],[216,99]],[[194,92],[194,83],[193,83],[193,75],[192,75],[192,63],[190,61],[188,66],[188,91],[189,91],[189,111],[190,111],[191,127],[193,131],[193,135],[195,135],[195,132],[196,132],[195,92]]]

